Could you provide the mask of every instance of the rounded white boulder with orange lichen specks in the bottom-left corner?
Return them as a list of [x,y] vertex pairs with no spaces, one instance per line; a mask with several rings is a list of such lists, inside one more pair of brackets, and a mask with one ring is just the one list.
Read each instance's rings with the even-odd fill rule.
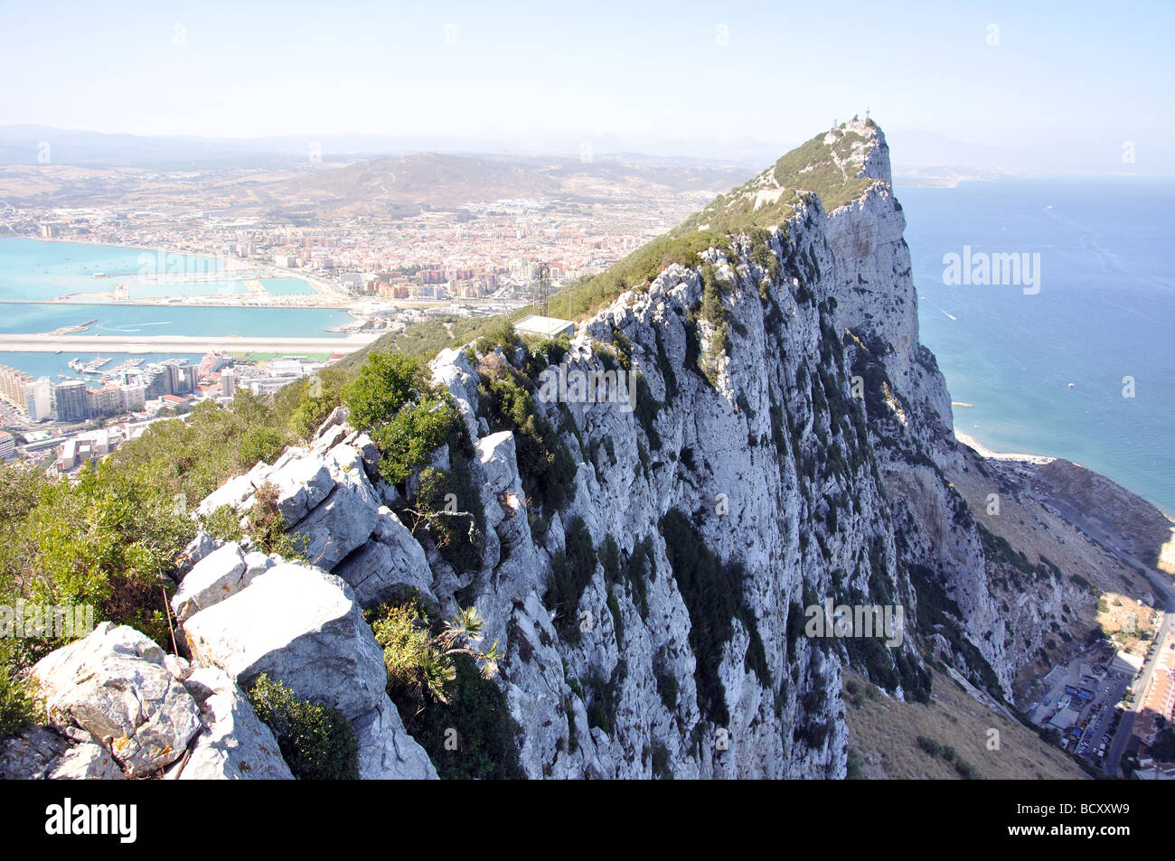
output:
[[33,673],[51,721],[107,741],[128,776],[174,762],[200,729],[196,702],[163,665],[163,651],[134,628],[103,623]]

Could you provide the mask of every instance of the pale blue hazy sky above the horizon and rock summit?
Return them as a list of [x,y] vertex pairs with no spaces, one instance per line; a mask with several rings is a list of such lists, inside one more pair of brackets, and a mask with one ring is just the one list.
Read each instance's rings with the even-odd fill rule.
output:
[[1170,140],[1173,9],[2,0],[0,125],[794,142],[871,108],[983,144]]

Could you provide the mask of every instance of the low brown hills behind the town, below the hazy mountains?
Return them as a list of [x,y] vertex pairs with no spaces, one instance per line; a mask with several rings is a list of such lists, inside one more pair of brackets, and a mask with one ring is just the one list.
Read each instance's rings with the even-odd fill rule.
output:
[[[51,144],[52,146],[52,144]],[[159,150],[154,150],[159,152]],[[271,166],[227,157],[189,169],[70,166],[0,167],[0,201],[38,207],[137,207],[220,211],[289,221],[407,217],[466,203],[543,200],[565,206],[631,204],[698,193],[701,200],[743,182],[745,168],[639,155],[590,161],[568,156],[414,155],[309,161],[270,155]],[[247,161],[247,160],[246,160]]]

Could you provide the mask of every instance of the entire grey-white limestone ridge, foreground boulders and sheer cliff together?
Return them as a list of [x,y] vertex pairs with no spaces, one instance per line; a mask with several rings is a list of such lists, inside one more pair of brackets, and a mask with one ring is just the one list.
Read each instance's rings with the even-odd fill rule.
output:
[[[1034,643],[1014,632],[1021,617],[993,587],[991,540],[947,478],[975,466],[918,339],[885,137],[855,121],[828,136],[854,141],[835,157],[862,189],[853,200],[828,213],[804,189],[772,190],[765,174],[748,186],[753,201],[726,206],[794,191],[784,224],[704,250],[699,267],[672,264],[579,327],[558,374],[620,366],[640,378],[625,377],[636,409],[536,397],[575,464],[566,504],[528,499],[529,449],[491,432],[479,369],[443,350],[432,377],[469,444],[432,462],[463,464],[477,489],[484,530],[470,570],[397,519],[416,477],[384,484],[371,439],[336,410],[309,446],[200,505],[229,506],[247,526],[273,499],[309,563],[199,537],[173,603],[195,670],[173,660],[173,675],[153,644],[101,628],[38,667],[55,721],[100,746],[122,739],[110,749],[132,775],[184,753],[181,776],[286,776],[241,695],[267,673],[340,708],[362,776],[434,778],[361,612],[414,592],[445,616],[475,605],[485,643],[504,650],[496,684],[531,778],[842,778],[846,666],[925,699],[933,657],[1010,699]],[[511,361],[498,349],[492,364]],[[575,593],[553,603],[555,570],[580,564]],[[1045,628],[1065,591],[1040,588],[1053,594]],[[901,610],[905,625],[886,638],[821,635],[807,623],[826,601]],[[82,666],[125,681],[109,693],[76,675]],[[99,769],[88,741],[29,736],[18,760],[39,774]]]

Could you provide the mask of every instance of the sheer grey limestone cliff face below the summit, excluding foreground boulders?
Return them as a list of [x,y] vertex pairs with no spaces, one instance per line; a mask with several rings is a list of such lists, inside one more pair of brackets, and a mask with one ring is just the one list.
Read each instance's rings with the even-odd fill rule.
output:
[[[848,664],[895,697],[925,697],[929,653],[1010,693],[982,543],[942,472],[961,457],[918,339],[888,149],[872,123],[847,132],[864,142],[838,164],[873,180],[855,200],[827,213],[801,195],[783,229],[700,255],[727,284],[725,349],[700,312],[701,273],[676,264],[580,327],[559,371],[604,371],[599,354],[623,344],[649,403],[539,404],[579,465],[575,500],[548,524],[530,517],[512,435],[478,418],[469,358],[432,362],[470,431],[486,519],[483,570],[430,556],[434,591],[446,610],[469,600],[458,588],[472,594],[488,639],[505,644],[530,776],[844,776]],[[713,357],[709,379],[699,355]],[[576,518],[638,573],[597,563],[570,638],[544,598]],[[741,607],[718,644],[697,628],[725,620],[671,564],[705,553],[738,573]],[[825,599],[902,607],[901,643],[805,635],[806,608]]]

